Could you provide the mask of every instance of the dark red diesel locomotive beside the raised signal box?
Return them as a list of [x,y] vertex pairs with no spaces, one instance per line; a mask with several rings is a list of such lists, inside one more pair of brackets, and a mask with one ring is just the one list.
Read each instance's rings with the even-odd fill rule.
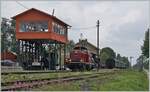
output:
[[66,59],[65,64],[71,70],[91,70],[94,68],[92,54],[83,46],[75,47],[70,52],[70,58]]

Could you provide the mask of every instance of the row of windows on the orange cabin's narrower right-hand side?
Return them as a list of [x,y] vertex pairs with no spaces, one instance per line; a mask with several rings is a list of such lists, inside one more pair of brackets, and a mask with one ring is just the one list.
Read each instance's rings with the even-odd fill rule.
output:
[[52,31],[60,35],[65,35],[66,29],[64,26],[61,26],[55,22],[52,22]]

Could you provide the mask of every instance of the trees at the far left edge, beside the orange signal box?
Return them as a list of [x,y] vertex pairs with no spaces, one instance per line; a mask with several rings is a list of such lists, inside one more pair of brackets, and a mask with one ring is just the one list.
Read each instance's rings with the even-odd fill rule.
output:
[[1,52],[11,50],[16,52],[15,22],[2,18],[1,22]]

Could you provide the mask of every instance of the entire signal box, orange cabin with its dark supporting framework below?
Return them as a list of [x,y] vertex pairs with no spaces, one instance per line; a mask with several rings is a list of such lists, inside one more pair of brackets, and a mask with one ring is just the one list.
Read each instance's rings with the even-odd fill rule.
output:
[[55,69],[58,63],[61,66],[68,24],[34,8],[12,18],[16,20],[18,61],[25,69],[38,65],[41,69]]

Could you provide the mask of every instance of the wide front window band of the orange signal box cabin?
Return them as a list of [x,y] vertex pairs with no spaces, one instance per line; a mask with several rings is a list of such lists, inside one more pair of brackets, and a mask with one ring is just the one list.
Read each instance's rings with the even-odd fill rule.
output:
[[21,22],[20,32],[48,32],[48,21]]

